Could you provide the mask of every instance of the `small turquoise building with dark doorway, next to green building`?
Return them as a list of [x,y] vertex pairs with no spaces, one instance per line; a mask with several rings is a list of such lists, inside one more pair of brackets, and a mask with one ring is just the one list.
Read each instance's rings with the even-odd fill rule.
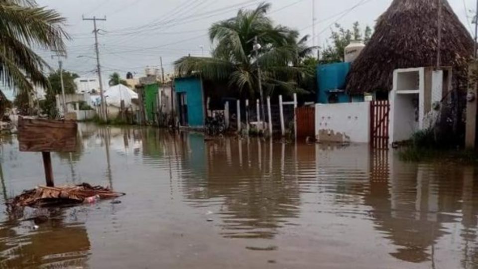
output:
[[176,104],[181,126],[203,128],[205,125],[205,101],[200,78],[188,77],[174,80]]

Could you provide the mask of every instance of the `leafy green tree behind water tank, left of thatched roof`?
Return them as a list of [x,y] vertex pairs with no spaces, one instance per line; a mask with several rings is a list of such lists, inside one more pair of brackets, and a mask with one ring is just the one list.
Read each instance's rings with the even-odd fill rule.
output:
[[[362,35],[363,32],[363,35]],[[335,24],[335,29],[332,29],[330,39],[332,44],[329,44],[321,55],[321,63],[335,63],[344,61],[345,47],[347,47],[352,40],[362,40],[365,44],[370,40],[372,29],[368,26],[365,30],[360,29],[359,22],[355,22],[352,29],[345,29],[340,24]]]

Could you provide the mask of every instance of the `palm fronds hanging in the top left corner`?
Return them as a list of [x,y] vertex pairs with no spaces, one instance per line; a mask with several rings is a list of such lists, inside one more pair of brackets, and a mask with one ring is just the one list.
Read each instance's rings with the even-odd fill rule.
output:
[[0,81],[19,93],[48,89],[51,68],[33,50],[64,51],[65,18],[34,0],[0,0],[0,21]]

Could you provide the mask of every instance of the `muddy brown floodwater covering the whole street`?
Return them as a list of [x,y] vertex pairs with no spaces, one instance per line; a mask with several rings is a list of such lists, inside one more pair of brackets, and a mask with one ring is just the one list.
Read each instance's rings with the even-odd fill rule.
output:
[[[478,176],[367,145],[282,144],[81,125],[57,185],[127,195],[0,208],[0,268],[478,268]],[[3,201],[44,184],[41,155],[2,137]]]

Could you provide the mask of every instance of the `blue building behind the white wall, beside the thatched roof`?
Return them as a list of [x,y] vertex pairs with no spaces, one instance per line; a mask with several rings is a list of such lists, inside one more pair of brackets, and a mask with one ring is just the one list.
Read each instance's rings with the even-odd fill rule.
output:
[[362,96],[350,96],[345,91],[351,63],[332,63],[317,66],[317,103],[363,102]]

